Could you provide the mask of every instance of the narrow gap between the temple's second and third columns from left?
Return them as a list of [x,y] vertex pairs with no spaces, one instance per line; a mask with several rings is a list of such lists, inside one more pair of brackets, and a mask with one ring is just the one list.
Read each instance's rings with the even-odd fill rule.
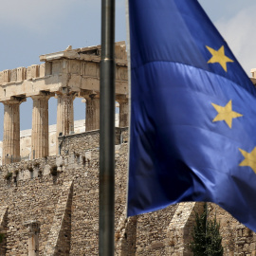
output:
[[51,97],[48,101],[49,155],[56,155],[57,103],[58,100],[55,97]]

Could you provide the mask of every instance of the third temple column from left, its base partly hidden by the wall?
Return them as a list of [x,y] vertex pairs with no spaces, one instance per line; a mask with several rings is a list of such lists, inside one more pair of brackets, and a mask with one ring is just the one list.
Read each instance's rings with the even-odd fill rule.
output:
[[58,137],[60,133],[69,135],[74,132],[74,95],[58,94],[57,124],[56,124],[56,154],[59,154]]

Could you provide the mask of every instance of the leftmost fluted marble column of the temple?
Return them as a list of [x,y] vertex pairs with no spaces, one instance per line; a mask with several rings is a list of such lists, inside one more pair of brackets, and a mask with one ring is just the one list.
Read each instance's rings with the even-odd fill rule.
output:
[[15,98],[4,103],[3,164],[20,161],[20,104],[26,99]]

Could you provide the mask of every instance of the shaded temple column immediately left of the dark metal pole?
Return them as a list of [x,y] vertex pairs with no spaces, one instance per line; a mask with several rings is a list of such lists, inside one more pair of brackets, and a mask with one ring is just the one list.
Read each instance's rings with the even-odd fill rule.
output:
[[91,94],[86,99],[85,128],[87,131],[100,129],[100,95]]

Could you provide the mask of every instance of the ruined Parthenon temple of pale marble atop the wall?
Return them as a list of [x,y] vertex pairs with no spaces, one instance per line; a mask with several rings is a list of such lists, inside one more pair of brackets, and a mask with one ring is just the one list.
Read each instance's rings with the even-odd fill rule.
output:
[[[128,126],[128,75],[124,42],[116,44],[116,101],[119,126]],[[90,46],[45,54],[44,64],[33,64],[0,72],[0,101],[4,104],[2,163],[20,160],[20,104],[33,101],[31,151],[33,158],[49,153],[48,100],[58,99],[56,137],[74,131],[73,101],[86,102],[86,131],[100,128],[101,46]],[[57,139],[58,141],[58,139]],[[56,154],[58,155],[58,143]]]

